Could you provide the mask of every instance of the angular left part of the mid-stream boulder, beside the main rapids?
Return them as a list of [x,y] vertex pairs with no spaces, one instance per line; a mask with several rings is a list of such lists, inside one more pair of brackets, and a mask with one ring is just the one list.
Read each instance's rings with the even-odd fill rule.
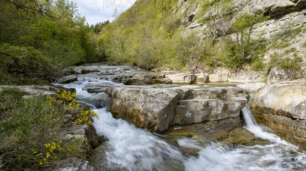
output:
[[178,93],[161,89],[113,88],[110,111],[137,127],[163,132],[172,125]]

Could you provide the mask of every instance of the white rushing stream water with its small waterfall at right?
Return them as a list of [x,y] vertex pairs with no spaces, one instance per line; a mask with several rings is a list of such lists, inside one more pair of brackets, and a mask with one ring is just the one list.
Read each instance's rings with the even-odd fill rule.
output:
[[[80,79],[82,80],[82,79]],[[104,93],[88,93],[84,87],[96,83],[109,83],[98,79],[66,84],[77,89],[80,100],[97,98],[107,104]],[[120,86],[120,84],[117,84]],[[92,100],[84,100],[91,104]],[[304,152],[258,125],[249,108],[243,108],[245,128],[253,132],[256,140],[247,145],[224,145],[209,142],[205,138],[176,138],[171,143],[162,135],[136,128],[122,119],[114,119],[105,108],[91,109],[100,119],[93,119],[98,134],[108,138],[105,160],[101,170],[306,170]],[[104,104],[105,106],[105,104]],[[172,138],[173,139],[173,138]],[[197,155],[186,155],[181,149],[198,151]]]

